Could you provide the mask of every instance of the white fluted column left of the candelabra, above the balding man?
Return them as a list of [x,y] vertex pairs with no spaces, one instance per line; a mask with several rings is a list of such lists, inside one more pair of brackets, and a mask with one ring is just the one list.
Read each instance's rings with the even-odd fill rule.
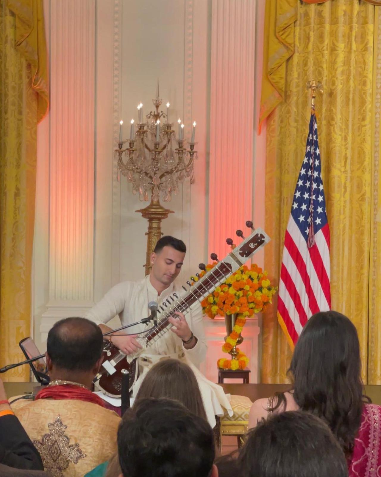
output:
[[95,0],[50,3],[49,302],[52,319],[93,303]]

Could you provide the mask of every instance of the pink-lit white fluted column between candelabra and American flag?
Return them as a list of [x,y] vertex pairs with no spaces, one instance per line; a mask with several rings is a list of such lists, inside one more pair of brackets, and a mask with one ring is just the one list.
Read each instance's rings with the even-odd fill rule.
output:
[[212,0],[208,249],[220,259],[253,215],[255,3]]

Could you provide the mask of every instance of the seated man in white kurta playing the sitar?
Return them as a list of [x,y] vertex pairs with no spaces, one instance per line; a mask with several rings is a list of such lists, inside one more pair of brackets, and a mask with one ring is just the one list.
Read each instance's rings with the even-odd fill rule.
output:
[[[143,280],[125,281],[115,285],[86,314],[86,317],[99,324],[100,329],[105,333],[111,331],[105,323],[116,315],[119,315],[122,325],[127,325],[150,314],[148,309],[150,301],[167,306],[165,302],[172,302],[169,297],[173,292],[176,292],[178,296],[184,293],[181,286],[176,285],[174,280],[180,273],[186,250],[184,242],[180,239],[170,236],[159,239],[151,254],[150,275]],[[232,410],[221,386],[208,381],[197,369],[197,366],[204,361],[207,350],[200,303],[194,303],[186,312],[186,316],[176,311],[168,321],[173,325],[170,331],[162,334],[153,344],[150,343],[150,347],[145,350],[141,349],[136,335],[126,336],[126,333],[130,333],[129,329],[116,332],[108,338],[125,354],[140,352],[140,376],[134,384],[133,394],[137,393],[148,369],[163,356],[181,359],[189,364],[198,380],[208,421],[214,426],[215,415],[224,415],[221,406],[230,414]],[[152,325],[150,321],[146,325],[134,327],[132,332],[144,332]]]

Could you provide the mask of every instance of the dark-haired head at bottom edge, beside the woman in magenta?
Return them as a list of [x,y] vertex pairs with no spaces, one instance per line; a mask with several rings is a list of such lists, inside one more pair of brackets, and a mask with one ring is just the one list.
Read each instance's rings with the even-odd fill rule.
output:
[[242,477],[348,477],[344,453],[329,427],[303,411],[263,420],[238,459]]

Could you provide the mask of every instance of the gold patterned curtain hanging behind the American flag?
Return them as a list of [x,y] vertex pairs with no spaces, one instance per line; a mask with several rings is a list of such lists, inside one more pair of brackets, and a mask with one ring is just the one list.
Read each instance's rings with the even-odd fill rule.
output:
[[[265,249],[265,263],[269,273],[279,277],[284,233],[308,133],[310,97],[305,84],[312,78],[323,83],[325,92],[317,98],[316,113],[331,229],[332,308],[348,315],[358,330],[364,379],[368,325],[377,336],[380,332],[376,316],[380,267],[374,263],[377,270],[372,270],[370,265],[370,238],[376,239],[379,225],[374,215],[381,217],[371,200],[373,184],[378,184],[372,177],[378,170],[371,120],[375,9],[379,7],[357,0],[297,3],[294,54],[286,63],[284,101],[267,123],[266,197],[270,203],[265,229],[272,241]],[[378,107],[379,103],[380,96]],[[378,249],[374,254],[379,257]],[[374,305],[368,320],[369,277],[375,283],[371,283]],[[284,382],[290,363],[291,351],[275,311],[276,304],[263,318],[262,382]],[[381,361],[378,343],[381,339],[373,346],[375,360]],[[369,383],[375,384],[371,375]]]

